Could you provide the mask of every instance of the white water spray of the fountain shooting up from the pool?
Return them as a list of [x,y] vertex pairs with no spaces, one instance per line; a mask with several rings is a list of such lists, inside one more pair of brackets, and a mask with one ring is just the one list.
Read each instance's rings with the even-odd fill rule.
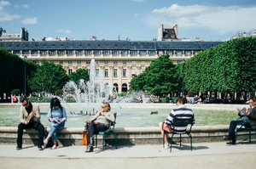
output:
[[63,87],[64,101],[68,97],[75,99],[79,106],[79,112],[72,112],[75,115],[93,115],[100,108],[103,101],[108,101],[109,93],[113,93],[113,85],[104,82],[103,72],[96,73],[95,59],[90,60],[90,81],[80,80],[79,84],[67,82]]

